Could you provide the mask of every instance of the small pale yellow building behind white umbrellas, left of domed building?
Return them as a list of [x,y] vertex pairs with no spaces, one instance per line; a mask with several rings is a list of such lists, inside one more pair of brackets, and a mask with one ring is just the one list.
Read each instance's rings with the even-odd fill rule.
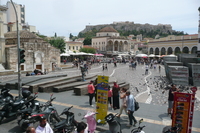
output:
[[66,42],[66,51],[70,50],[77,53],[81,48],[83,48],[82,42],[73,42],[73,41]]

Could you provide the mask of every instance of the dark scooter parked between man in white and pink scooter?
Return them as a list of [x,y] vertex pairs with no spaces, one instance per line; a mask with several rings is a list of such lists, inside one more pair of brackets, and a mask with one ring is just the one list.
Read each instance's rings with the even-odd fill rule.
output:
[[77,126],[77,122],[74,119],[74,113],[70,112],[69,110],[73,106],[69,108],[65,108],[60,115],[66,115],[66,119],[56,123],[54,125],[54,132],[55,133],[71,133],[75,130],[75,126]]

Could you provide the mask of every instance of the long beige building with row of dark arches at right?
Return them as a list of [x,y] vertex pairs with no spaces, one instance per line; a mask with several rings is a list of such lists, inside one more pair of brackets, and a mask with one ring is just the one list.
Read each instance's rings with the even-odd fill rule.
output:
[[148,54],[169,55],[188,53],[193,54],[197,51],[198,34],[175,36],[169,35],[164,38],[149,40]]

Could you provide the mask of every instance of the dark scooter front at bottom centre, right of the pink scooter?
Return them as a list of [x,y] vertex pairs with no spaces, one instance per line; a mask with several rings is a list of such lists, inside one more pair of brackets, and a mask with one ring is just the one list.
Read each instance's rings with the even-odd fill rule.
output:
[[110,113],[105,117],[105,120],[109,125],[109,130],[111,133],[122,133],[121,124],[115,119],[117,115],[118,113],[116,115]]

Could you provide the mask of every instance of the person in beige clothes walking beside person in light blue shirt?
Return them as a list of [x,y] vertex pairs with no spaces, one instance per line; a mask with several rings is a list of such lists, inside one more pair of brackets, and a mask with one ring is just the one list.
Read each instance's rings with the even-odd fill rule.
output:
[[120,99],[121,99],[121,106],[120,106],[120,111],[119,111],[119,115],[117,117],[120,117],[122,114],[122,111],[124,110],[124,112],[127,114],[127,105],[126,105],[126,88],[122,88],[120,91]]

